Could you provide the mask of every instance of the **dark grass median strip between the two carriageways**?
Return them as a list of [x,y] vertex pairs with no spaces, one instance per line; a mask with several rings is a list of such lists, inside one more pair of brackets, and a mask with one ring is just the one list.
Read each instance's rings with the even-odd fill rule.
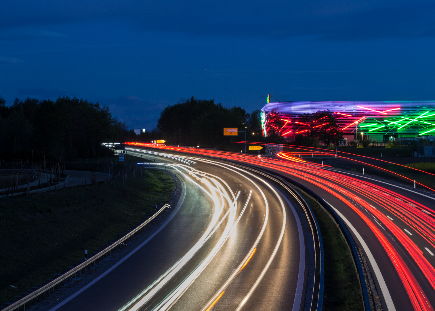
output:
[[310,203],[317,218],[323,241],[325,260],[323,310],[363,310],[358,275],[345,239],[328,213],[315,200],[308,196],[305,196],[305,199]]

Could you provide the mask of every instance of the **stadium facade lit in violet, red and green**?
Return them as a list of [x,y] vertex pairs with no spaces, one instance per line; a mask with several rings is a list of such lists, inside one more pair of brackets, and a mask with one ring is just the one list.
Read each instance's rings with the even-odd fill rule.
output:
[[[261,109],[263,135],[271,130],[291,140],[301,115],[329,110],[348,140],[364,132],[368,139],[413,138],[435,135],[435,101],[286,101],[269,102]],[[273,115],[273,117],[271,117]],[[279,118],[280,128],[272,128]],[[283,125],[282,125],[283,124]]]

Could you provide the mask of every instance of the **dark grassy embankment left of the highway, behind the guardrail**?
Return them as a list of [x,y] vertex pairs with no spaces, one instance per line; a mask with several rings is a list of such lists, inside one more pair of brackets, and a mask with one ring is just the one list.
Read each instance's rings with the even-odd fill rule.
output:
[[[139,174],[137,174],[139,176]],[[83,259],[167,203],[174,181],[160,170],[122,181],[0,201],[0,304]],[[13,285],[17,288],[13,288]]]

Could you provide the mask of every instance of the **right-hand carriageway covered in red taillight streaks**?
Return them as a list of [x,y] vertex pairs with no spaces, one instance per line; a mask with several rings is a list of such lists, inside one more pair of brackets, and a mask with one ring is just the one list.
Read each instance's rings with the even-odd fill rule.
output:
[[185,159],[205,155],[243,162],[307,186],[335,208],[347,224],[367,259],[384,310],[433,310],[435,196],[292,159],[258,159],[177,147],[153,150],[184,154]]

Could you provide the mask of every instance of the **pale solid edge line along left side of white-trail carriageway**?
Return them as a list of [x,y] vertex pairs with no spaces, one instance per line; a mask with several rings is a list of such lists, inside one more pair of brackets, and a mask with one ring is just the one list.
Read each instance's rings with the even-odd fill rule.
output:
[[147,240],[145,240],[144,242],[141,243],[141,245],[139,245],[138,247],[136,247],[134,250],[132,250],[129,254],[127,254],[124,258],[122,258],[121,260],[119,260],[116,264],[114,264],[112,267],[110,267],[109,269],[107,269],[103,274],[101,274],[99,277],[95,278],[93,281],[91,281],[89,284],[87,284],[86,286],[80,288],[80,290],[76,291],[74,294],[72,294],[70,297],[68,297],[67,299],[61,301],[59,304],[57,304],[56,306],[54,306],[53,308],[51,308],[49,311],[54,311],[57,310],[58,308],[62,307],[64,304],[66,304],[68,301],[70,301],[71,299],[73,299],[74,297],[77,297],[79,294],[81,294],[82,292],[86,291],[89,287],[91,287],[92,285],[94,285],[95,283],[97,283],[98,281],[100,281],[103,277],[105,277],[107,274],[109,274],[112,270],[114,270],[116,267],[118,267],[120,264],[122,264],[125,260],[127,260],[128,257],[130,257],[131,255],[133,255],[134,253],[137,252],[137,250],[139,250],[141,247],[143,247],[146,243],[148,243],[153,237],[155,237],[157,235],[157,233],[159,233],[171,220],[172,218],[174,218],[175,214],[178,212],[178,210],[180,209],[181,205],[183,204],[184,201],[184,197],[186,196],[186,185],[184,183],[183,179],[178,178],[182,183],[183,183],[183,196],[180,198],[180,200],[177,203],[177,207],[174,210],[174,213],[171,214],[171,216],[169,216],[169,218],[164,222],[163,225],[161,225],[161,227],[159,229],[157,229],[156,232],[154,232],[151,237],[147,238]]

